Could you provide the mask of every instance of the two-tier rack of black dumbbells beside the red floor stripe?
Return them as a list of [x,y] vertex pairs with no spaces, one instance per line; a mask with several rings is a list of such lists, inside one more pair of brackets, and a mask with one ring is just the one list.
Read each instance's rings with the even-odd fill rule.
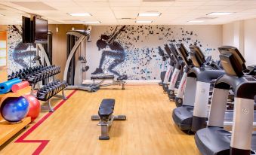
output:
[[[53,67],[55,67],[55,66],[53,66]],[[45,72],[41,72],[41,73],[39,73],[39,75],[38,75],[38,77],[36,77],[36,76],[31,76],[32,78],[30,78],[29,79],[29,77],[27,78],[27,80],[29,81],[29,83],[31,84],[31,92],[30,92],[30,94],[32,95],[32,96],[35,96],[36,98],[37,98],[37,96],[36,96],[36,93],[35,93],[35,86],[36,85],[39,85],[39,82],[41,82],[41,81],[43,81],[43,80],[45,80],[46,78],[52,78],[53,79],[53,81],[54,81],[54,75],[56,75],[56,74],[59,74],[60,73],[60,67],[59,66],[57,66],[57,67],[55,67],[55,68],[57,68],[57,71],[47,71],[47,69],[45,70]],[[64,99],[64,100],[66,100],[66,96],[65,96],[65,93],[64,93],[64,89],[65,88],[63,88],[63,90],[60,90],[60,91],[62,91],[62,95],[60,96],[60,95],[58,95],[57,93],[59,93],[60,91],[58,91],[57,93],[55,93],[53,96],[51,96],[50,98],[48,98],[48,99],[39,99],[39,98],[37,98],[37,99],[39,99],[40,101],[44,101],[44,102],[46,102],[47,103],[47,108],[48,108],[48,111],[50,111],[50,112],[53,112],[54,111],[54,108],[52,108],[52,106],[51,106],[51,98],[52,97],[57,97],[57,98],[60,98],[60,99]],[[39,91],[39,90],[38,90]],[[42,108],[45,108],[45,106],[42,106]]]

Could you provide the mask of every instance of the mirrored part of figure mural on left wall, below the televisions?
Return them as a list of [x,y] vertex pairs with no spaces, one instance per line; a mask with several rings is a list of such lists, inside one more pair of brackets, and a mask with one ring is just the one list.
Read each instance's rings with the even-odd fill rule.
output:
[[19,71],[21,68],[34,66],[35,44],[23,44],[22,28],[20,25],[8,26],[8,74]]

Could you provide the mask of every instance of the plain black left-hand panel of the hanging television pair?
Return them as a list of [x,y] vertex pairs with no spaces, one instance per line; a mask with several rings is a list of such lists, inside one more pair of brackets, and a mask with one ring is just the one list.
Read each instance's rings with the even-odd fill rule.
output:
[[22,41],[23,43],[32,43],[32,23],[30,18],[22,17]]

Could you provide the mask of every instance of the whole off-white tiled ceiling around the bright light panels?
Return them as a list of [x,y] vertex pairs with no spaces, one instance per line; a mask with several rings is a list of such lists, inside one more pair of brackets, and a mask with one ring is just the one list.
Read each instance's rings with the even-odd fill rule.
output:
[[[14,3],[19,4],[15,5]],[[43,3],[54,10],[38,10],[24,4]],[[5,5],[5,6],[3,6]],[[22,6],[23,5],[23,6]],[[25,7],[25,8],[24,8]],[[40,6],[42,7],[42,6]],[[36,9],[36,10],[32,10]],[[44,8],[48,9],[48,8]],[[56,9],[56,10],[55,10]],[[147,11],[161,12],[160,17],[137,17],[138,13]],[[176,0],[175,2],[143,2],[142,0],[0,0],[0,23],[17,23],[22,15],[39,14],[49,20],[49,23],[70,23],[70,20],[99,20],[100,25],[135,24],[134,20],[153,20],[152,24],[190,24],[187,20],[207,17],[211,12],[230,11],[224,17],[207,20],[202,24],[221,24],[234,20],[256,17],[256,0]],[[70,12],[88,12],[92,17],[72,17]],[[134,20],[120,20],[120,18]],[[68,22],[69,20],[69,22]],[[81,24],[81,23],[80,23]],[[201,24],[201,23],[200,23]]]

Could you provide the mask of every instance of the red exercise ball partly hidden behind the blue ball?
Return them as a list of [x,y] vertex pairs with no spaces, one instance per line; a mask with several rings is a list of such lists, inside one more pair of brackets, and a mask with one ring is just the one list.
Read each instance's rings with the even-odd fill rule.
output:
[[29,113],[26,116],[31,117],[32,122],[35,118],[39,117],[41,111],[40,102],[32,95],[24,95],[23,97],[29,102]]

